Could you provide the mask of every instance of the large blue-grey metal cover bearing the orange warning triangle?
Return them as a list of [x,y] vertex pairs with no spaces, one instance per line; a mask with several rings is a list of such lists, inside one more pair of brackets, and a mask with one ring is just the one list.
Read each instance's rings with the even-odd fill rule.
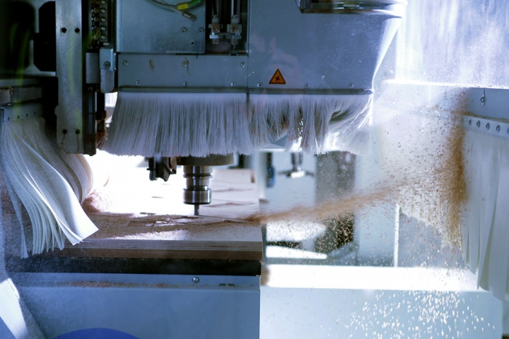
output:
[[[252,1],[249,87],[373,88],[400,20],[384,13],[301,13],[294,1]],[[278,69],[286,84],[269,84]]]

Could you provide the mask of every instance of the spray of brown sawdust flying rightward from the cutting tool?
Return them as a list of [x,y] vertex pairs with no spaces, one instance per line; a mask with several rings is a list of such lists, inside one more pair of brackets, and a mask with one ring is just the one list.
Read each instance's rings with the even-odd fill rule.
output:
[[334,201],[260,213],[250,220],[319,221],[393,203],[402,213],[436,227],[443,246],[460,249],[462,208],[467,201],[463,114],[438,105],[417,110],[381,105],[375,114],[383,118],[373,126],[373,160],[369,168],[361,169],[363,177],[370,177],[368,182],[356,183],[350,194]]

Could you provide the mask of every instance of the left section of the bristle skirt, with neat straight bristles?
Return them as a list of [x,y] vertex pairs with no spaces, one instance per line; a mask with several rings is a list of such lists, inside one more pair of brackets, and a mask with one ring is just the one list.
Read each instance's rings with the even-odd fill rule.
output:
[[118,95],[103,150],[176,157],[250,153],[245,93]]

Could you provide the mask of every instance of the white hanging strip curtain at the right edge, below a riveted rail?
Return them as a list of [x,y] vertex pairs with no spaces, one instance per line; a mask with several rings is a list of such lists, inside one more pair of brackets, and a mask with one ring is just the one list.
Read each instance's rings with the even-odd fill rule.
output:
[[[508,131],[509,124],[503,125],[501,131]],[[473,273],[478,272],[480,287],[509,300],[509,137],[465,126],[469,198],[462,232],[464,259]]]

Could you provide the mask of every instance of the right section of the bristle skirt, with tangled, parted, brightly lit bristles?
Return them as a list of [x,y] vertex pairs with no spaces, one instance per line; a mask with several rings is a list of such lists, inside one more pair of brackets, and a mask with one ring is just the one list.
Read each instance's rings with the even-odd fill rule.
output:
[[368,149],[373,95],[250,95],[254,148],[286,138],[286,150]]

